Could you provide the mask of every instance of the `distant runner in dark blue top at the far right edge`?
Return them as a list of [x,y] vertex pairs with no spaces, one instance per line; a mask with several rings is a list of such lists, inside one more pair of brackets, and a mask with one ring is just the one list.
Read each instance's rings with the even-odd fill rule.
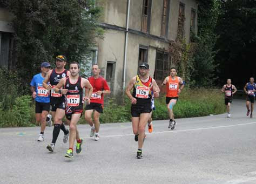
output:
[[[250,78],[249,83],[245,84],[244,91],[247,94],[247,97],[246,97],[247,113],[246,113],[246,115],[249,115],[251,112],[250,118],[252,118],[254,97],[255,97],[255,91],[256,91],[256,84],[254,83],[253,77]],[[251,103],[251,110],[250,110],[250,103]]]

